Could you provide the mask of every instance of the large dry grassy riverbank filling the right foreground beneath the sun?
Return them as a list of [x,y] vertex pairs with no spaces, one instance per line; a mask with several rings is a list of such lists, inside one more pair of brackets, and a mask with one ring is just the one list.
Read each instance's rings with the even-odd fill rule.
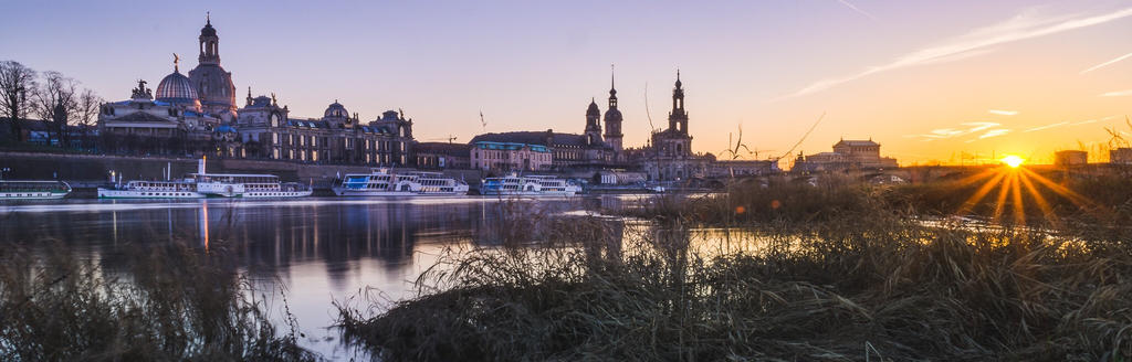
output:
[[[391,361],[1132,360],[1121,238],[923,223],[877,191],[660,200],[643,225],[541,217],[537,245],[453,252],[418,281],[431,292],[340,305],[341,327]],[[739,227],[688,227],[713,224]]]

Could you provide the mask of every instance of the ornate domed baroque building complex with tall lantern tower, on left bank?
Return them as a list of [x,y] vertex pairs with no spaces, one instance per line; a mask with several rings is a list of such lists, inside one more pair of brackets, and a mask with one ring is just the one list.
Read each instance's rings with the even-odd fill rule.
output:
[[275,95],[248,96],[237,107],[232,74],[220,61],[220,36],[207,18],[197,37],[198,64],[188,76],[180,72],[174,54],[173,72],[154,92],[145,81],[128,101],[102,105],[102,133],[148,144],[185,145],[189,153],[228,157],[257,157],[311,163],[401,166],[411,157],[412,120],[402,112],[386,111],[361,122],[335,101],[320,118],[294,118],[280,106]]

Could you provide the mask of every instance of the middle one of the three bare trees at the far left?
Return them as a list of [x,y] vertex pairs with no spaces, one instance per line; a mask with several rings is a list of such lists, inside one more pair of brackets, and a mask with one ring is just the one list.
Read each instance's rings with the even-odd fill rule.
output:
[[54,132],[59,145],[67,147],[67,123],[77,109],[78,81],[58,71],[45,71],[43,83],[36,88],[34,98],[32,104],[35,114],[51,122],[49,135]]

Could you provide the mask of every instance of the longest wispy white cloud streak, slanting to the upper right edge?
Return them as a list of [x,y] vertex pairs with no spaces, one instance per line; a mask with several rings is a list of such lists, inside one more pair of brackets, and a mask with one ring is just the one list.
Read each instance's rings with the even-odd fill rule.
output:
[[779,97],[778,100],[825,90],[848,81],[893,69],[931,63],[972,51],[981,51],[989,46],[1105,24],[1129,16],[1132,16],[1132,8],[1124,8],[1106,14],[1077,16],[1039,16],[1032,10],[1023,11],[1005,21],[978,28],[941,44],[901,55],[889,63],[868,67],[863,71],[848,76],[814,81],[800,90]]

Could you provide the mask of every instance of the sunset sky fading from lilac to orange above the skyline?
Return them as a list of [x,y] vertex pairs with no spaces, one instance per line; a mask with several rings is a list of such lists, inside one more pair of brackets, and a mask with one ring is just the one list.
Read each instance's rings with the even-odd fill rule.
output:
[[[104,98],[196,66],[212,11],[224,68],[292,117],[338,100],[403,109],[418,140],[581,132],[616,64],[625,144],[667,122],[676,69],[697,152],[743,127],[758,158],[881,143],[901,164],[963,154],[1048,162],[1132,132],[1132,1],[6,1],[0,60]],[[1107,155],[1091,155],[1106,160]],[[748,155],[747,158],[754,157]],[[791,158],[791,157],[787,157]],[[783,167],[788,163],[783,163]]]

